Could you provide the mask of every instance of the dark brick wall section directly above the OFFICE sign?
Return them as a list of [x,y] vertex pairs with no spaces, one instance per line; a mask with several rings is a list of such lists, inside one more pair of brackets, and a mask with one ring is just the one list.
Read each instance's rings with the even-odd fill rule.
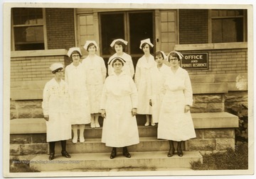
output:
[[179,10],[179,44],[208,43],[208,10]]

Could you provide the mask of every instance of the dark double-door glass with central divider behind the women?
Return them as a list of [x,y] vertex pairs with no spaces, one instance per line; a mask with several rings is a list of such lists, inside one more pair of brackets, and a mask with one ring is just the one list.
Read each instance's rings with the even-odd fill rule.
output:
[[152,11],[100,13],[102,57],[107,58],[114,53],[110,44],[117,38],[128,41],[125,52],[135,59],[142,57],[143,51],[139,49],[140,40],[150,38],[154,44],[153,17]]

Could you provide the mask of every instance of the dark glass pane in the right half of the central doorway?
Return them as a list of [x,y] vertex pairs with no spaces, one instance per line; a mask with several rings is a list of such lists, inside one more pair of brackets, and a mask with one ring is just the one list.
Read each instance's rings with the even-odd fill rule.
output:
[[139,49],[140,40],[150,38],[153,41],[153,13],[129,13],[129,30],[130,40],[132,44],[131,54],[143,54],[143,51]]

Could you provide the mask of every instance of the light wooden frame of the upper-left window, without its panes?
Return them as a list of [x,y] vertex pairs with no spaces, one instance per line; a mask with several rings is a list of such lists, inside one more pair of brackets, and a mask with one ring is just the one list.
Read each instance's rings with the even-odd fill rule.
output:
[[[22,8],[22,7],[20,7]],[[47,32],[46,32],[46,8],[42,8],[43,12],[43,24],[40,25],[14,25],[14,12],[11,11],[11,51],[25,51],[25,50],[15,50],[15,39],[14,39],[14,28],[18,27],[27,27],[27,26],[43,26],[43,44],[44,44],[44,49],[43,50],[48,50],[48,45],[47,45]],[[33,49],[31,49],[33,50]]]

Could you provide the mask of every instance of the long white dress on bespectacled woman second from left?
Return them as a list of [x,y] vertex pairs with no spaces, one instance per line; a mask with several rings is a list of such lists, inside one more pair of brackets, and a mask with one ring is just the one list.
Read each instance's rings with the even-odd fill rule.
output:
[[70,64],[65,68],[65,81],[68,83],[71,101],[71,124],[85,125],[90,123],[90,102],[86,88],[85,67]]

